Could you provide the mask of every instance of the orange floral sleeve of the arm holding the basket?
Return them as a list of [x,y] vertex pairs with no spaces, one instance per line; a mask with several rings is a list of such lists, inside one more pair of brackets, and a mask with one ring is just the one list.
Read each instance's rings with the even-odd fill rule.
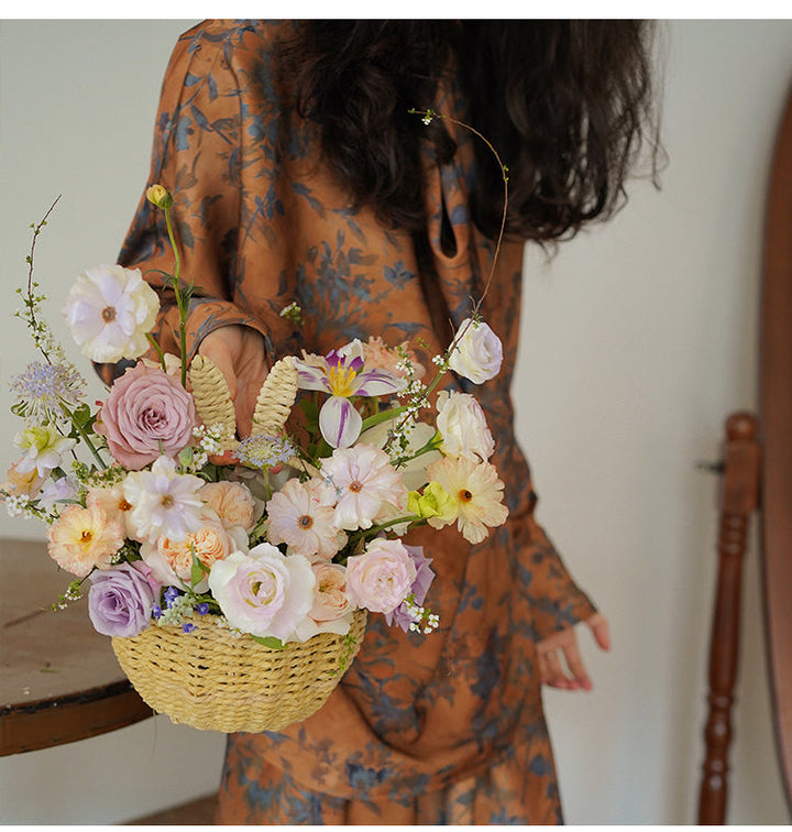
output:
[[[188,359],[212,330],[245,325],[267,349],[272,327],[244,308],[240,255],[243,143],[242,96],[229,55],[231,43],[211,29],[183,35],[162,88],[146,187],[160,184],[174,197],[172,218],[180,256],[180,283],[194,282],[187,317]],[[240,30],[234,50],[248,46]],[[175,266],[165,212],[141,197],[119,262],[142,270],[161,297],[155,337],[166,352],[179,352],[179,316],[165,275]],[[107,374],[107,373],[105,373]]]

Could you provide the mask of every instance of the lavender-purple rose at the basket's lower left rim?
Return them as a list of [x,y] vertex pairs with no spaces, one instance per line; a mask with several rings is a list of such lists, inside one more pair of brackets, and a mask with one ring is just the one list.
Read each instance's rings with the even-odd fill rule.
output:
[[162,584],[145,563],[121,563],[95,572],[91,582],[88,615],[98,633],[125,637],[148,627]]

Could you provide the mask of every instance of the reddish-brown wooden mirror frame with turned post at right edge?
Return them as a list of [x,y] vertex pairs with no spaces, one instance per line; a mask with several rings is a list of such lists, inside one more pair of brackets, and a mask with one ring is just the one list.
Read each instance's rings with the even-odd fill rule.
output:
[[[760,413],[726,420],[708,718],[698,823],[726,819],[746,533],[760,513],[766,635],[779,765],[792,795],[792,90],[768,190],[762,274]],[[792,802],[790,802],[792,806]]]

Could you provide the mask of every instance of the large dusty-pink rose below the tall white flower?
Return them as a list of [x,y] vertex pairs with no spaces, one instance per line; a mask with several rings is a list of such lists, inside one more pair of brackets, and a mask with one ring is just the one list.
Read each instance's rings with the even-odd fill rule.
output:
[[118,379],[96,431],[124,468],[140,471],[161,455],[175,458],[196,424],[193,396],[158,366],[138,364]]

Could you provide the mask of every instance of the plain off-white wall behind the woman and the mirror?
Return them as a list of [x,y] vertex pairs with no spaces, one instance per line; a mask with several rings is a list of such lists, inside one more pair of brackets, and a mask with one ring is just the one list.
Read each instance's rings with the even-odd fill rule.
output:
[[[147,176],[167,57],[193,21],[0,23],[0,309],[19,306],[31,222],[57,194],[36,271],[50,319],[77,272],[112,261]],[[756,406],[765,186],[792,80],[789,21],[668,24],[657,193],[527,259],[518,430],[540,518],[613,627],[581,634],[590,694],[547,709],[570,823],[695,820],[725,417]],[[65,332],[64,343],[68,343]],[[3,381],[32,359],[0,326]],[[98,386],[97,386],[98,392]],[[13,460],[6,385],[0,419]],[[0,517],[0,535],[38,537]],[[756,547],[747,558],[729,821],[789,823],[774,759]],[[0,822],[113,823],[210,791],[222,737],[165,718],[0,759]]]

